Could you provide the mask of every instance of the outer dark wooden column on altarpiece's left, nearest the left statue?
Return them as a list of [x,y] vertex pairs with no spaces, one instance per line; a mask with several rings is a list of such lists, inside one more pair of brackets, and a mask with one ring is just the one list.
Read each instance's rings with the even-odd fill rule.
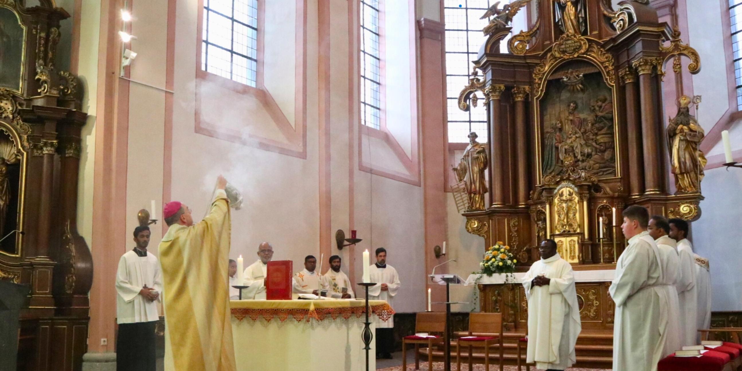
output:
[[505,206],[502,145],[507,139],[504,134],[507,123],[502,120],[500,113],[500,97],[503,91],[505,91],[505,85],[490,85],[485,89],[487,107],[490,111],[490,194],[492,195],[492,207]]

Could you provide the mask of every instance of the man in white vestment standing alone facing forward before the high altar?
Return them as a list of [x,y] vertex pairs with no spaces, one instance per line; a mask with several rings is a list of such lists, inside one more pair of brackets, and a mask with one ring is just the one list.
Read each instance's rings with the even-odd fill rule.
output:
[[526,363],[539,370],[566,370],[577,361],[574,345],[580,335],[580,306],[572,266],[557,254],[557,243],[544,240],[541,260],[523,278],[528,299]]

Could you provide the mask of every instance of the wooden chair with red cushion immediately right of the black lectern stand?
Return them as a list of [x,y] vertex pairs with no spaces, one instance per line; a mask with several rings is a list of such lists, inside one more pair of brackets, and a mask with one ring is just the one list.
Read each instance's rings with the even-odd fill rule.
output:
[[[470,313],[468,336],[456,341],[456,370],[461,370],[461,347],[469,347],[469,370],[472,368],[472,347],[485,348],[485,370],[490,371],[490,346],[499,344],[500,371],[502,371],[502,313]],[[478,336],[472,336],[472,334]],[[479,336],[480,334],[485,334]]]

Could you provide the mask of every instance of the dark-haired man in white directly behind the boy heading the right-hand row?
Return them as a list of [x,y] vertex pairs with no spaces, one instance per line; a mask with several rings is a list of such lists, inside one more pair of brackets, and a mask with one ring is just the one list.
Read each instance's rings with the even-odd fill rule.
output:
[[667,335],[665,337],[665,347],[662,352],[663,358],[682,349],[680,344],[680,303],[677,301],[677,269],[680,265],[680,257],[677,255],[675,240],[670,238],[670,223],[666,217],[655,215],[649,220],[649,235],[657,243],[657,249],[660,249],[660,261],[662,261],[662,272],[667,290]]

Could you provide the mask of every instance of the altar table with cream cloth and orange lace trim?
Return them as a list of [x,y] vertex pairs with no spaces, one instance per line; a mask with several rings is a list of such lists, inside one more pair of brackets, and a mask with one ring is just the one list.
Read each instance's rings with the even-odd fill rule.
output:
[[[375,318],[387,321],[394,310],[386,301],[369,301]],[[365,301],[231,301],[232,338],[237,370],[366,370],[361,339]],[[376,369],[374,342],[369,368]]]

